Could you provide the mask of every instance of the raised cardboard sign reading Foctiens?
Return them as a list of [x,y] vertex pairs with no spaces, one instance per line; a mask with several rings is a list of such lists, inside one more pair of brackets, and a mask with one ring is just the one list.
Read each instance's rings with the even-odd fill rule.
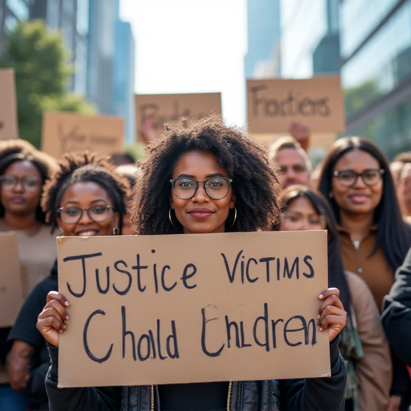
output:
[[339,76],[307,80],[247,80],[251,133],[287,133],[301,121],[311,133],[345,132],[344,96]]

